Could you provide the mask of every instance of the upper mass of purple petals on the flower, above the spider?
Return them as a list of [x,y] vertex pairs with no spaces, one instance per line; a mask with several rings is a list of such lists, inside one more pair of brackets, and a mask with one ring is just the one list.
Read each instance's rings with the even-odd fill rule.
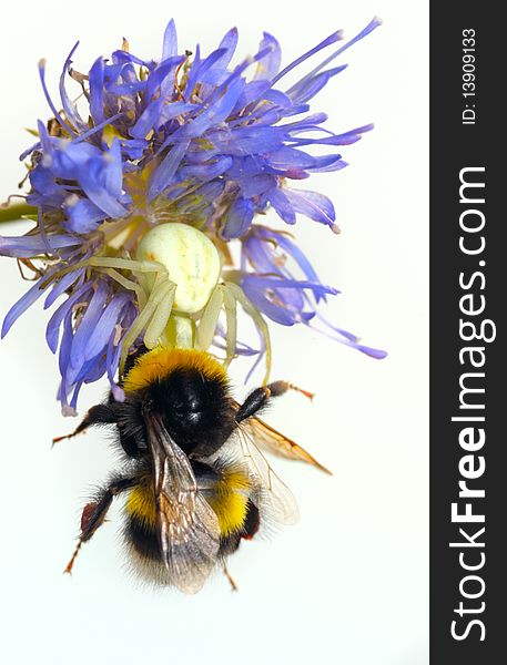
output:
[[[207,57],[199,45],[192,57],[178,53],[171,21],[160,61],[136,58],[124,47],[110,60],[95,60],[85,76],[71,69],[77,44],[60,79],[63,114],[49,96],[41,61],[55,121],[51,131],[39,122],[40,141],[21,155],[31,158],[28,202],[43,213],[58,211],[62,226],[78,234],[148,211],[190,215],[229,241],[244,235],[254,215],[268,207],[287,224],[302,214],[333,228],[331,201],[290,183],[343,168],[337,151],[372,129],[336,134],[324,126],[324,113],[308,114],[308,102],[346,66],[327,65],[378,24],[374,19],[290,88],[285,74],[342,40],[342,31],[283,70],[280,44],[267,33],[254,57],[232,66],[235,28]],[[67,91],[68,78],[83,86],[84,113]],[[313,155],[320,146],[328,154]],[[142,197],[132,195],[135,177],[129,174],[143,180]]]

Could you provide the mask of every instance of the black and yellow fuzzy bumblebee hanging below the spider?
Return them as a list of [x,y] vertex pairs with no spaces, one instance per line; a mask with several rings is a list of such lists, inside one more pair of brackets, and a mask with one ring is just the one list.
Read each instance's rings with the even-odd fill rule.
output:
[[252,539],[263,522],[297,519],[292,493],[258,447],[326,471],[256,416],[273,398],[298,389],[276,381],[240,405],[210,354],[163,347],[130,360],[121,386],[124,401],[110,393],[70,434],[91,426],[114,428],[124,464],[85,505],[65,572],[104,522],[114,497],[125,494],[124,542],[144,580],[195,593],[222,564],[234,587],[225,561],[241,541]]

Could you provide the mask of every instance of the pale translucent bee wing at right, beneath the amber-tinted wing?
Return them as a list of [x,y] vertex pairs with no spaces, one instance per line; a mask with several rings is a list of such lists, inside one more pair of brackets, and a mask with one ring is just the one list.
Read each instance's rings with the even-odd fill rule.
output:
[[300,518],[297,503],[287,488],[270,467],[258,450],[249,428],[241,424],[237,429],[242,457],[254,485],[261,490],[261,501],[267,508],[270,516],[281,524],[294,524]]

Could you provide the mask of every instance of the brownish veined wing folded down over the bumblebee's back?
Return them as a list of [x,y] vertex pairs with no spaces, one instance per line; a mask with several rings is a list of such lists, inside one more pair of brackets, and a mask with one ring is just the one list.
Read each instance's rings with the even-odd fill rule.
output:
[[189,458],[156,413],[144,413],[153,461],[156,526],[163,561],[180,591],[197,592],[216,563],[216,514],[197,490]]

